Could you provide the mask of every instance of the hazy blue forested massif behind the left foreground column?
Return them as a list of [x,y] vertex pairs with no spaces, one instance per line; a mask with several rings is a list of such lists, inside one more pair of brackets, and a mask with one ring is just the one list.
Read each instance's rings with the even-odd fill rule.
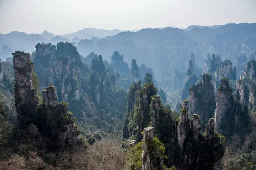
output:
[[[32,55],[40,87],[52,84],[58,100],[66,101],[85,135],[102,130],[105,135],[121,129],[126,92],[116,87],[115,75],[106,71],[102,56],[84,64],[76,47],[68,42],[38,44]],[[114,128],[113,128],[114,127]],[[102,131],[100,132],[101,135]]]

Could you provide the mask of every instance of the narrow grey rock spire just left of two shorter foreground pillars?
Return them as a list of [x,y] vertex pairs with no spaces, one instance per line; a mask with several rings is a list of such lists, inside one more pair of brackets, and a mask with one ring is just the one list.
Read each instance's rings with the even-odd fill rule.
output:
[[180,152],[183,152],[183,144],[185,139],[188,135],[189,128],[190,128],[190,121],[188,115],[188,107],[187,107],[187,100],[183,100],[181,109],[180,109],[180,121],[178,123],[178,144],[180,146]]

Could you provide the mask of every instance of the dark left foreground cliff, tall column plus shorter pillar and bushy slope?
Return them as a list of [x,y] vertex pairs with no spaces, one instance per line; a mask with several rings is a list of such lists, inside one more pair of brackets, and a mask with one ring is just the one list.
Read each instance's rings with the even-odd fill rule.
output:
[[49,85],[43,90],[42,103],[39,103],[38,79],[30,55],[16,51],[13,56],[15,106],[20,129],[26,131],[30,125],[36,125],[40,135],[49,141],[45,144],[50,149],[56,149],[56,144],[62,149],[80,144],[71,112],[65,103],[58,103],[55,87]]

